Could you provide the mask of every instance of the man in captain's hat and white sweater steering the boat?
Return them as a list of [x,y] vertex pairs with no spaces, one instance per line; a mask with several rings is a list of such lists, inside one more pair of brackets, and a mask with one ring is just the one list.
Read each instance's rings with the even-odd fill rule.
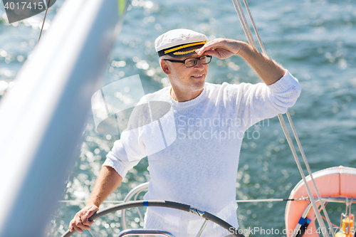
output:
[[[286,112],[300,95],[300,85],[288,70],[243,41],[207,40],[204,34],[176,29],[155,41],[159,63],[172,86],[145,95],[142,102],[169,102],[177,138],[148,155],[151,179],[145,199],[189,204],[238,228],[236,174],[244,132],[260,120]],[[244,58],[263,83],[205,83],[211,56],[224,59],[234,55]],[[103,164],[87,206],[70,222],[70,231],[90,228],[93,221],[88,218],[120,185],[127,171],[152,150],[155,142],[147,133],[147,129],[122,132]],[[150,207],[145,228],[169,231],[176,237],[196,236],[203,221],[182,211]],[[201,236],[228,234],[209,221]]]

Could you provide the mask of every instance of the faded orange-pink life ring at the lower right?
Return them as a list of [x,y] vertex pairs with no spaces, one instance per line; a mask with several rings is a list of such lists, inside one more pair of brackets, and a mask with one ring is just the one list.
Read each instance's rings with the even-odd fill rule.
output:
[[[320,196],[323,197],[347,197],[349,199],[356,199],[356,169],[350,167],[331,167],[313,173],[315,184],[318,186]],[[310,190],[314,198],[317,197],[313,183],[310,176],[306,177]],[[308,192],[305,188],[303,180],[295,185],[294,189],[290,192],[289,199],[299,199],[302,196],[308,197]],[[297,226],[300,217],[303,215],[304,210],[308,206],[309,201],[288,201],[286,205],[286,234],[287,237],[292,236],[292,233]],[[320,205],[320,204],[319,204]],[[304,236],[319,237],[316,232],[315,226],[315,213],[311,209],[308,218],[312,220],[309,223],[307,232]]]

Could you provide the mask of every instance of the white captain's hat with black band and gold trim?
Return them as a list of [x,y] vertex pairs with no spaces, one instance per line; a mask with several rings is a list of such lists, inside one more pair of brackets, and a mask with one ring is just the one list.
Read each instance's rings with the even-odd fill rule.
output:
[[194,54],[207,41],[208,38],[202,33],[178,28],[158,36],[155,48],[159,57],[169,55],[178,58]]

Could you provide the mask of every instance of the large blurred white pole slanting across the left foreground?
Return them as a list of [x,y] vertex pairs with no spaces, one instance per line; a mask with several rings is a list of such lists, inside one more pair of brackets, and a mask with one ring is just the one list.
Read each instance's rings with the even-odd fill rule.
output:
[[125,0],[67,0],[0,103],[0,236],[44,236]]

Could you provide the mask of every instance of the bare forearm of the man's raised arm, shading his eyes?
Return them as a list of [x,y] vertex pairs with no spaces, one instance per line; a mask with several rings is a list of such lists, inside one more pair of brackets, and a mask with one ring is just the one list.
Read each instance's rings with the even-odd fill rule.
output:
[[241,43],[241,50],[237,55],[244,58],[256,70],[256,73],[266,85],[276,83],[286,73],[286,70],[281,65],[268,58],[266,54],[252,48],[248,43]]

